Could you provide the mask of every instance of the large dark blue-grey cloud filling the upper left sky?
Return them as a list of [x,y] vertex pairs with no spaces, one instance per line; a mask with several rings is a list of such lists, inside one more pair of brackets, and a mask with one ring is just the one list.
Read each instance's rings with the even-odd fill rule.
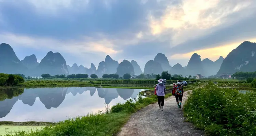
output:
[[[147,16],[164,11],[166,1],[157,3],[150,0],[142,4],[140,0],[109,2],[102,0],[73,1],[75,9],[58,7],[57,15],[43,14],[28,0],[3,0],[0,13],[5,25],[0,33],[12,32],[21,35],[74,39],[81,36],[97,37],[99,33],[106,38],[131,37],[139,31],[147,31]],[[156,13],[154,11],[157,11]]]

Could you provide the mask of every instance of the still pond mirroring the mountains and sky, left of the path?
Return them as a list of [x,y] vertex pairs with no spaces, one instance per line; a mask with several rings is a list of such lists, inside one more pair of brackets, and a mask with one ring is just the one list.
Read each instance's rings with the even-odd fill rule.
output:
[[[138,97],[144,89],[94,87],[0,89],[0,121],[58,122],[105,111]],[[23,92],[24,91],[24,92]],[[4,98],[6,97],[6,99]]]

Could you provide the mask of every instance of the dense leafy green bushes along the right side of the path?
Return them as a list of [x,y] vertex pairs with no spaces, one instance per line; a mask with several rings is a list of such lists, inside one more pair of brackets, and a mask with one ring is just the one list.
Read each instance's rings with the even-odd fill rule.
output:
[[184,115],[210,136],[255,136],[255,105],[255,91],[242,94],[209,82],[191,92]]

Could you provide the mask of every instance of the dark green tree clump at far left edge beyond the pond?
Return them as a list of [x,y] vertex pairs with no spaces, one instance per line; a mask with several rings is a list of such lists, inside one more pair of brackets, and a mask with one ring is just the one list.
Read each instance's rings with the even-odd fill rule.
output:
[[25,79],[18,74],[4,74],[0,73],[1,86],[15,86],[19,83],[24,83]]

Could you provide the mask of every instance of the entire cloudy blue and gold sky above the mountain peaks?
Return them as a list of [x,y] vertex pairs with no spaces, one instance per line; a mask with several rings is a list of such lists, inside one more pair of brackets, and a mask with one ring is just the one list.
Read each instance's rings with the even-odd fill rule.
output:
[[143,70],[157,53],[186,66],[195,52],[215,61],[246,40],[256,42],[256,0],[0,0],[0,43],[20,60],[53,51],[98,67],[109,54]]

